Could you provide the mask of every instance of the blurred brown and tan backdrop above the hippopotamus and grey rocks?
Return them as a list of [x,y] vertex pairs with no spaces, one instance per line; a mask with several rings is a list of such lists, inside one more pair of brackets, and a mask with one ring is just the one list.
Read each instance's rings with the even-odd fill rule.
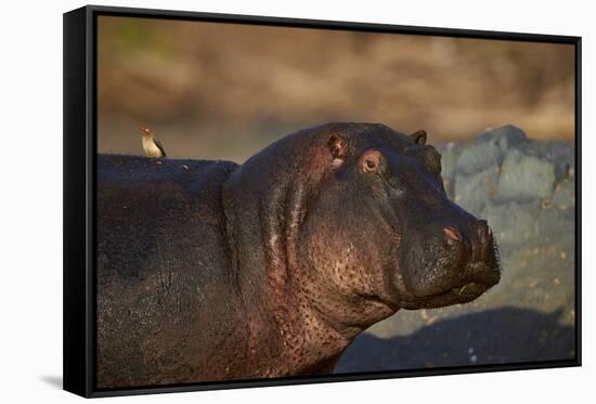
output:
[[376,121],[430,142],[513,123],[573,140],[566,44],[101,16],[99,152],[237,162],[297,129]]

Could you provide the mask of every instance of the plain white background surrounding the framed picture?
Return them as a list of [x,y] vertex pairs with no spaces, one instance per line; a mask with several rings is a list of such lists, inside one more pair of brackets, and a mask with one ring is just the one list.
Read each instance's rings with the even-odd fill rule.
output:
[[[594,400],[596,26],[589,1],[100,1],[236,14],[582,36],[584,366],[153,395],[126,402],[565,403]],[[0,401],[75,401],[62,378],[62,13],[80,1],[5,1],[0,13]],[[591,75],[592,73],[592,75]],[[592,114],[591,114],[592,113]],[[592,179],[592,181],[589,181]],[[587,399],[589,398],[589,399]]]

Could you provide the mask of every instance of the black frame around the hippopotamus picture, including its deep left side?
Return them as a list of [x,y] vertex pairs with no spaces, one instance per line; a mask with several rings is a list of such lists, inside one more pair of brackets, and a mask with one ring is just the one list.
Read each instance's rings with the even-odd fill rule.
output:
[[[575,357],[130,389],[95,387],[96,19],[101,15],[568,43],[575,49]],[[64,14],[64,390],[86,398],[581,366],[581,37],[89,5]]]

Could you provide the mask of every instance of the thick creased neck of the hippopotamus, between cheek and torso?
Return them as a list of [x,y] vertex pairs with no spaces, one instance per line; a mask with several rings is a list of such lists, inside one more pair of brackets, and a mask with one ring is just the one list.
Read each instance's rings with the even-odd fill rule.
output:
[[329,167],[326,141],[333,132],[329,125],[286,136],[244,162],[222,186],[232,277],[247,310],[275,322],[277,329],[269,336],[275,341],[251,338],[277,346],[280,366],[293,374],[321,366],[331,372],[333,359],[361,331],[334,324],[293,277],[300,264],[296,240]]

